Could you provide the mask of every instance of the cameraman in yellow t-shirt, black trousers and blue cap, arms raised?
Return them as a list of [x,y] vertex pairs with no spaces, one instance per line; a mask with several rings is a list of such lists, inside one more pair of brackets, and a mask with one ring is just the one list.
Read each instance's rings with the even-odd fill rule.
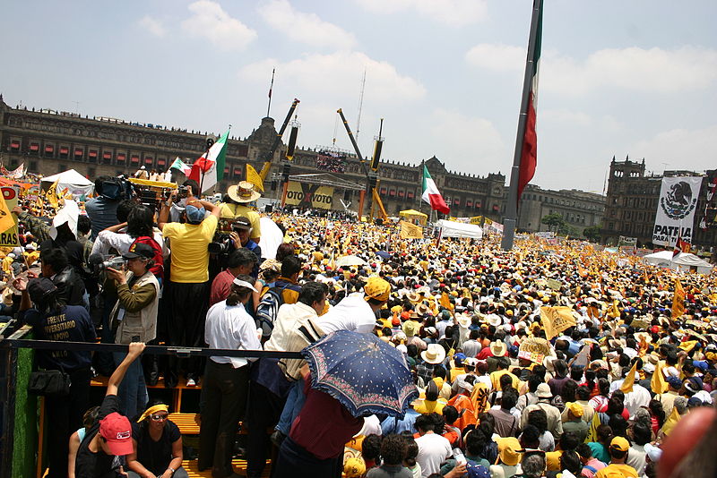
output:
[[[189,188],[189,195],[192,195]],[[187,201],[182,213],[185,223],[169,223],[169,208],[177,192],[172,192],[160,210],[159,227],[165,239],[169,239],[171,273],[169,278],[168,302],[172,308],[168,323],[169,345],[201,346],[203,344],[204,318],[209,299],[209,243],[219,222],[219,207],[211,202],[192,199]],[[211,211],[207,217],[206,211]],[[187,361],[187,385],[196,386],[201,361],[190,358]],[[177,362],[170,358],[165,373],[165,386],[177,385]]]

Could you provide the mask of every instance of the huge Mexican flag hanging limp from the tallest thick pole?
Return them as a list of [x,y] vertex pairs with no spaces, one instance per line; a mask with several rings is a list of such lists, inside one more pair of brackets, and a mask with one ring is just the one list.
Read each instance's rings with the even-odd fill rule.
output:
[[518,201],[525,186],[531,182],[535,175],[535,166],[538,164],[538,136],[535,132],[535,112],[538,107],[538,76],[540,73],[540,44],[543,34],[543,7],[540,3],[538,13],[538,32],[535,36],[535,50],[532,55],[531,91],[528,96],[528,122],[523,136],[523,149],[521,154],[520,175],[518,176]]

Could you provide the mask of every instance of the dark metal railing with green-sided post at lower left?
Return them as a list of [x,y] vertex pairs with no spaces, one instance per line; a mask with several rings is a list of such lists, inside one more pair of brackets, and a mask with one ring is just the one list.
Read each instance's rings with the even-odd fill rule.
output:
[[[73,350],[126,352],[122,344],[61,342],[28,338],[32,329],[23,326],[9,336],[13,322],[0,328],[0,476],[21,478],[35,474],[38,443],[38,397],[28,395],[27,386],[34,350]],[[206,347],[146,346],[143,354],[192,356],[229,356],[248,358],[298,359],[298,352],[234,350]]]

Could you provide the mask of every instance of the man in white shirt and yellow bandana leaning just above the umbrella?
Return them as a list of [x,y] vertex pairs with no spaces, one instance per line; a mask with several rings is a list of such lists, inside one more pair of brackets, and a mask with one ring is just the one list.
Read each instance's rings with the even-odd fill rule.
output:
[[350,294],[316,319],[316,325],[326,334],[336,330],[370,334],[376,328],[376,312],[385,305],[390,294],[388,282],[381,277],[369,277],[363,294]]

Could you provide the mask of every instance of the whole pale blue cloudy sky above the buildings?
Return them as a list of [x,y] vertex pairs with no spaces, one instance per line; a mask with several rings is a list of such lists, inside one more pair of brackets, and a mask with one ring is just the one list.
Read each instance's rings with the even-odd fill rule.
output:
[[[713,1],[546,0],[538,103],[545,188],[601,192],[613,155],[717,167]],[[298,143],[509,170],[529,0],[6,1],[0,91],[49,107],[245,137],[301,99]],[[75,102],[79,102],[75,103]],[[338,129],[336,126],[338,125]]]

